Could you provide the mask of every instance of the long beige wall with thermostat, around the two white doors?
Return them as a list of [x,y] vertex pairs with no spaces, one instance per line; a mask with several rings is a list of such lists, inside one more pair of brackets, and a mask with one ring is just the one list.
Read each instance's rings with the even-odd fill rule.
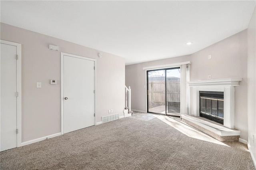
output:
[[[60,52],[97,59],[96,122],[108,109],[123,116],[125,59],[1,23],[1,40],[22,44],[22,142],[60,132]],[[49,49],[58,45],[59,51]],[[98,58],[101,52],[103,57]],[[57,85],[50,85],[57,79]],[[36,88],[36,82],[42,88]]]

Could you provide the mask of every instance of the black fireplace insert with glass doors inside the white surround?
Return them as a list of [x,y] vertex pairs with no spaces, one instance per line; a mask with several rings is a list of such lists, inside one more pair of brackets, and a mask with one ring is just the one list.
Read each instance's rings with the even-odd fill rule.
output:
[[200,117],[221,123],[224,119],[224,92],[199,91]]

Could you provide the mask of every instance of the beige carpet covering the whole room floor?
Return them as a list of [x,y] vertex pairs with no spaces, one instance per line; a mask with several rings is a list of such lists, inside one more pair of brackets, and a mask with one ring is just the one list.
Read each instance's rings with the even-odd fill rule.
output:
[[6,150],[0,153],[1,170],[254,169],[245,144],[216,142],[175,119],[158,118],[134,113]]

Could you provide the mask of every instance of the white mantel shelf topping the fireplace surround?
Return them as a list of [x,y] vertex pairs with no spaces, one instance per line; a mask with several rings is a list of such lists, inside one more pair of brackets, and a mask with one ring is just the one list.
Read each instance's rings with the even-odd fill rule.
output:
[[186,82],[189,87],[196,86],[239,86],[242,78],[227,78],[227,79],[210,79],[202,81],[188,81]]

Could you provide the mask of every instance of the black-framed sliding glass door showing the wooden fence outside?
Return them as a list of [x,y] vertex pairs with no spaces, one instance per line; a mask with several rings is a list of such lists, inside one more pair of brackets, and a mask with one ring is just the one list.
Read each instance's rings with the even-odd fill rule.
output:
[[148,112],[180,115],[180,67],[147,71]]

